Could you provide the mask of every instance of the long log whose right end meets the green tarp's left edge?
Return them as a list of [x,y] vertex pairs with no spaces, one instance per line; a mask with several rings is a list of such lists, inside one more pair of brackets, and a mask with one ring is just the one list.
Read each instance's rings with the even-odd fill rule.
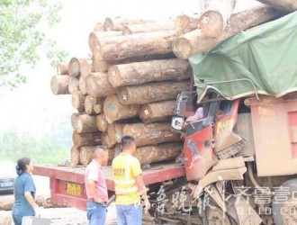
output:
[[192,67],[189,62],[179,58],[115,65],[108,70],[108,80],[113,87],[140,85],[152,81],[184,80],[191,75]]

